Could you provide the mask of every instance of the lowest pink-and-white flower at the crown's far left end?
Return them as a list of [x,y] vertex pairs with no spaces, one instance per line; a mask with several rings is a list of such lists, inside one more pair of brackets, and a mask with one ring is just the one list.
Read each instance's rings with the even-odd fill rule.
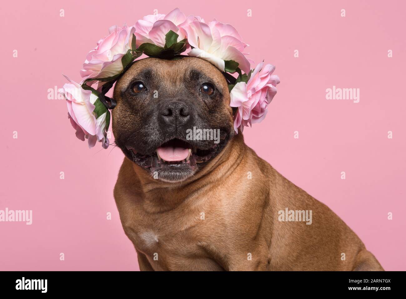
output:
[[63,91],[68,107],[68,117],[72,127],[76,130],[76,137],[84,141],[88,139],[89,147],[95,146],[97,141],[102,142],[103,147],[108,147],[106,137],[106,117],[107,111],[96,118],[95,102],[97,95],[90,90],[85,90],[80,84],[73,82],[65,76],[70,83],[63,85]]

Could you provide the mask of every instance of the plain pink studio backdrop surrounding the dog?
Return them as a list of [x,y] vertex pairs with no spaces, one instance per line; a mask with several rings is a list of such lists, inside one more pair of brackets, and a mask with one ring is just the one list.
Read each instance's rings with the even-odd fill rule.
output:
[[[171,3],[2,4],[0,210],[32,210],[33,223],[0,222],[0,270],[138,270],[112,195],[123,154],[100,144],[89,150],[75,137],[65,101],[47,96],[66,82],[62,73],[80,80],[86,53],[111,25],[132,25],[154,9],[167,13]],[[276,65],[278,94],[266,119],[244,131],[246,143],[332,208],[384,269],[406,270],[405,4],[177,3],[187,15],[233,24],[256,63],[264,58]],[[333,85],[359,88],[360,102],[326,100]],[[293,138],[296,130],[299,139]]]

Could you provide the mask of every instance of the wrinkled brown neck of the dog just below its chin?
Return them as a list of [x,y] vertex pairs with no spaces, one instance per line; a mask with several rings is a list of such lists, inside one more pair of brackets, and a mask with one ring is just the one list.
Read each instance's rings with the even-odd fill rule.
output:
[[240,166],[247,148],[242,134],[237,134],[203,169],[192,178],[178,183],[156,180],[130,160],[127,160],[127,163],[132,163],[136,175],[134,179],[142,188],[147,208],[151,212],[163,212],[175,208],[202,188],[216,188],[229,179],[234,170]]

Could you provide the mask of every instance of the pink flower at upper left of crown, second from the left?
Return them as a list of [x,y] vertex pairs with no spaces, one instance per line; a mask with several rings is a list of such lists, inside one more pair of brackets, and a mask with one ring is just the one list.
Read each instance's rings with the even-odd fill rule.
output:
[[123,72],[121,57],[131,48],[134,26],[123,28],[112,26],[109,35],[97,42],[96,48],[91,50],[80,71],[83,78],[108,78]]

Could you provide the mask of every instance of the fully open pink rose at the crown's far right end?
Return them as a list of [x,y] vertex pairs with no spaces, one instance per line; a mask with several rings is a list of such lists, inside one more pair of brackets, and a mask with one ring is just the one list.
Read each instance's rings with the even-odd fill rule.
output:
[[244,126],[261,122],[268,112],[268,104],[276,94],[279,77],[272,75],[275,67],[264,65],[263,62],[255,67],[248,82],[238,82],[230,92],[230,106],[238,107],[234,116],[234,130],[243,131]]

